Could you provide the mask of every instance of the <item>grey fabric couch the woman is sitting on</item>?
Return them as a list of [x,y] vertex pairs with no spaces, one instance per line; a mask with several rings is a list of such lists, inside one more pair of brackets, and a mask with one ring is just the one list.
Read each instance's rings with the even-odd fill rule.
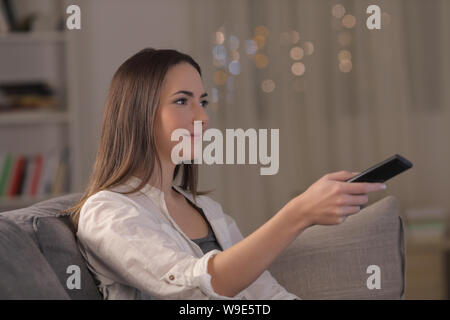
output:
[[[102,299],[77,249],[68,216],[61,214],[80,196],[69,194],[0,213],[0,299]],[[401,299],[403,237],[397,200],[387,196],[341,225],[307,229],[269,271],[304,299]],[[81,289],[67,285],[71,265],[80,268]],[[367,272],[371,265],[379,267],[379,289],[367,286],[374,276]]]

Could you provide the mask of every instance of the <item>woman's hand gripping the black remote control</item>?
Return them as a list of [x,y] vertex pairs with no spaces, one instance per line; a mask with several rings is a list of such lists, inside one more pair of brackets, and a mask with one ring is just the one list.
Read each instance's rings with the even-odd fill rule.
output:
[[340,224],[369,201],[367,193],[383,190],[385,186],[383,183],[345,182],[356,174],[358,172],[349,171],[326,174],[289,201],[285,209],[302,226]]

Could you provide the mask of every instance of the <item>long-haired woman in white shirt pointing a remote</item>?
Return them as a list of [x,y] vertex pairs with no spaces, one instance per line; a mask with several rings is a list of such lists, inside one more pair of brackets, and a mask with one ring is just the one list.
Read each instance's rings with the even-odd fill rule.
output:
[[175,129],[192,141],[194,121],[206,130],[206,96],[198,64],[175,50],[144,49],[112,79],[89,185],[66,210],[105,299],[300,299],[266,269],[303,230],[342,223],[381,190],[327,174],[243,238],[197,191],[197,165],[171,160]]

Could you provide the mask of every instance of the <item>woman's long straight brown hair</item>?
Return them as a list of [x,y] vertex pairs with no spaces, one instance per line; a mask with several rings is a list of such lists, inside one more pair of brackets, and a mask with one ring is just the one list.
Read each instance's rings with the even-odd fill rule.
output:
[[[147,184],[159,168],[161,160],[156,151],[155,128],[159,99],[164,78],[170,67],[187,62],[200,74],[194,59],[172,49],[146,48],[126,60],[114,74],[103,113],[100,143],[87,188],[81,199],[71,208],[70,220],[78,230],[80,211],[85,201],[98,191],[127,181],[143,169],[144,178],[134,193]],[[175,166],[173,180],[182,166],[180,187],[194,197],[207,192],[197,191],[198,165],[182,163]]]

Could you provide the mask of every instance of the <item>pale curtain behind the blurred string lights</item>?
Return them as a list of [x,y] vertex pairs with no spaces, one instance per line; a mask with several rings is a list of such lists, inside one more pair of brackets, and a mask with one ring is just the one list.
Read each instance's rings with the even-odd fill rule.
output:
[[[345,27],[343,17],[333,16],[337,4],[355,17],[354,27]],[[374,1],[192,1],[191,54],[200,62],[210,100],[214,88],[219,93],[217,105],[209,109],[210,127],[223,132],[280,129],[276,175],[260,175],[260,165],[201,167],[202,189],[216,190],[213,198],[244,234],[324,174],[362,171],[395,153],[410,159],[414,168],[390,180],[386,191],[371,194],[370,202],[394,195],[402,210],[449,207],[450,1],[376,1],[383,12],[381,30],[366,27],[371,4]],[[263,69],[244,50],[245,41],[261,25],[269,30],[265,46],[258,50],[268,57]],[[220,68],[213,65],[212,50],[219,30],[224,31],[225,45],[230,35],[240,40],[240,74],[223,69],[232,79],[228,85],[214,82]],[[295,34],[292,31],[299,40],[283,44],[280,36]],[[303,75],[294,76],[290,50],[305,49],[307,41],[314,50],[300,60]],[[339,68],[341,50],[351,53],[350,72]],[[265,79],[275,83],[270,93],[261,88]]]

